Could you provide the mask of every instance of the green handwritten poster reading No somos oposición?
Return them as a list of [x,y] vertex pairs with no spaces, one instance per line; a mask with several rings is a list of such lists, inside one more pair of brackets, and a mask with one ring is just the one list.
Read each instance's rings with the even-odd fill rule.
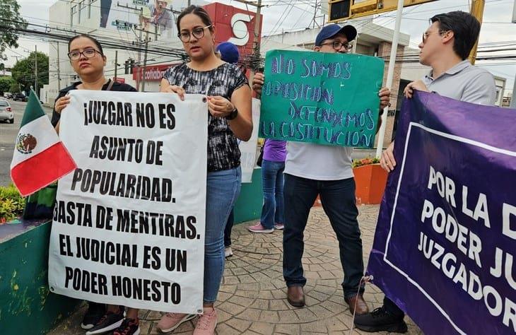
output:
[[361,54],[267,52],[259,136],[372,148],[383,69]]

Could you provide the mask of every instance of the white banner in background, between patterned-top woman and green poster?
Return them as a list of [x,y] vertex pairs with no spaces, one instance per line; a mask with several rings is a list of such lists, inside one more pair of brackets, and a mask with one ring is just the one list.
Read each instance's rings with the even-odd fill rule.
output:
[[242,167],[242,182],[252,182],[252,172],[256,166],[256,146],[258,142],[258,124],[260,121],[260,100],[252,98],[252,134],[249,141],[238,140],[240,148],[240,166]]

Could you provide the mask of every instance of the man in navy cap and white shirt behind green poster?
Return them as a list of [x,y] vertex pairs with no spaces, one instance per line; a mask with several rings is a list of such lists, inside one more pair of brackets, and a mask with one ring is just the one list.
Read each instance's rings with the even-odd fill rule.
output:
[[[352,25],[336,24],[321,29],[315,39],[315,52],[351,51],[351,41],[356,37]],[[263,74],[256,74],[253,88],[261,93]],[[389,105],[390,91],[380,90],[380,109]],[[364,264],[362,240],[358,227],[358,209],[355,199],[355,180],[351,168],[351,151],[343,146],[322,146],[315,143],[288,142],[285,162],[285,230],[283,231],[283,278],[288,290],[287,300],[295,307],[305,305],[306,278],[303,276],[303,233],[317,194],[322,208],[329,217],[339,240],[342,269],[344,270],[344,300],[351,313],[368,312],[363,300],[361,283]]]

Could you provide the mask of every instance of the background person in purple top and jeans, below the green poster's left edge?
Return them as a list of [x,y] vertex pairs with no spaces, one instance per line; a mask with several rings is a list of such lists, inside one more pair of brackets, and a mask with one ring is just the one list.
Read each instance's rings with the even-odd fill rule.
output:
[[272,233],[283,230],[283,170],[287,155],[286,141],[266,139],[262,161],[264,205],[260,222],[248,227],[252,233]]

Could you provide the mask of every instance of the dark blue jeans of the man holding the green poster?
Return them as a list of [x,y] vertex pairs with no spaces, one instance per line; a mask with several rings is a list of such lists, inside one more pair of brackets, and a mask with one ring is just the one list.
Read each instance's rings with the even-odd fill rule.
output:
[[[285,230],[283,230],[283,278],[287,286],[305,286],[303,276],[303,232],[317,194],[339,240],[345,297],[363,292],[360,279],[364,264],[358,227],[355,180],[310,180],[285,175]],[[359,287],[360,286],[360,287]]]

